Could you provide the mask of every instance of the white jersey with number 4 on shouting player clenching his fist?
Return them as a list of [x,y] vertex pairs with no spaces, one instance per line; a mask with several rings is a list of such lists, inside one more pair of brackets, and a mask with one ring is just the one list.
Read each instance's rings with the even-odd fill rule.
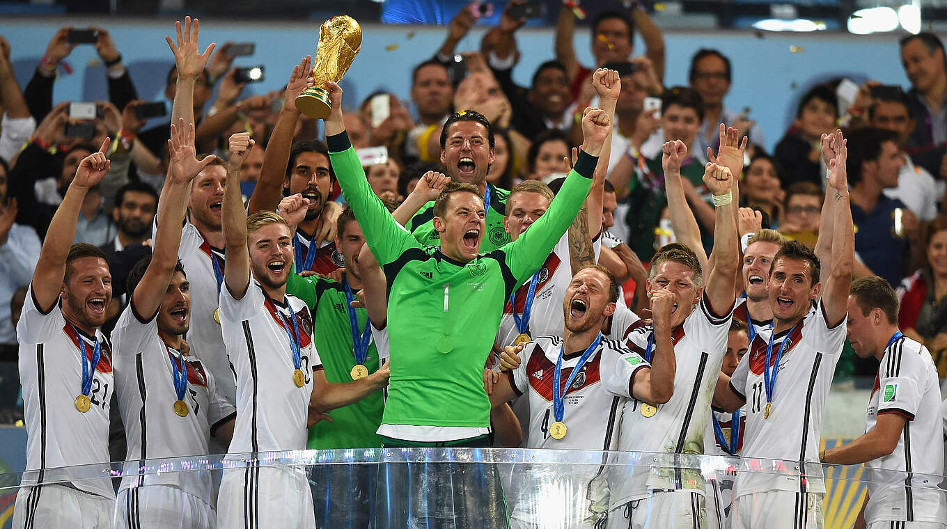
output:
[[[621,404],[631,397],[634,374],[643,367],[650,367],[637,354],[617,342],[602,340],[596,352],[581,366],[581,372],[565,388],[563,396],[563,423],[566,433],[562,439],[549,434],[549,427],[556,422],[552,392],[555,387],[556,361],[563,350],[563,339],[558,336],[540,336],[527,344],[521,353],[518,368],[508,371],[510,385],[521,398],[529,403],[529,435],[526,448],[549,450],[612,450],[616,448],[618,420]],[[560,384],[565,384],[585,351],[574,351],[563,355]],[[562,386],[561,386],[562,387]],[[607,503],[604,494],[592,494],[592,490],[606,491],[607,476],[601,474],[602,467],[570,469],[567,476],[556,479],[559,490],[582,491],[582,497],[598,503],[604,512]],[[599,477],[601,476],[601,477]],[[600,486],[590,484],[599,478]],[[528,479],[522,485],[520,498],[513,509],[512,517],[518,520],[536,520],[543,513],[535,513],[535,497],[542,494],[548,484],[543,480]],[[567,482],[567,483],[565,483]],[[589,490],[591,496],[586,495]],[[593,498],[595,496],[596,498]],[[532,499],[533,501],[528,501]],[[583,511],[586,510],[583,507]],[[578,515],[566,513],[567,519]]]

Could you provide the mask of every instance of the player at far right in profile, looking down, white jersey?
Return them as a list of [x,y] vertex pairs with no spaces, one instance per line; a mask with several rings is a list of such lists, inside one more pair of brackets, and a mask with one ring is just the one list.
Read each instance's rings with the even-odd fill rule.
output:
[[932,479],[944,458],[938,371],[927,347],[902,335],[898,296],[881,277],[852,282],[848,335],[855,354],[881,362],[866,432],[820,459],[868,468],[860,515],[868,529],[947,527],[947,494]]

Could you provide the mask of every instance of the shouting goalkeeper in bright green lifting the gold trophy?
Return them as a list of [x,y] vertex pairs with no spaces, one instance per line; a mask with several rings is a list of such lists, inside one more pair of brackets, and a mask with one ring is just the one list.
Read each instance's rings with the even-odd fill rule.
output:
[[[385,446],[391,447],[488,447],[491,407],[483,388],[483,368],[504,304],[509,294],[542,266],[579,213],[611,121],[600,109],[586,111],[579,160],[546,214],[520,238],[480,254],[486,211],[476,187],[452,183],[441,193],[433,219],[441,246],[421,245],[372,192],[345,133],[342,91],[333,82],[326,85],[332,101],[326,120],[332,167],[387,279],[392,371],[379,433]],[[474,144],[488,138],[474,130],[461,141]],[[471,472],[476,475],[470,480],[499,484],[498,477],[484,476],[490,473],[487,467]],[[499,527],[498,520],[506,526],[502,493],[491,496],[496,492],[487,488],[479,497],[471,492],[483,490],[483,486],[466,490],[459,505],[450,503],[454,512],[447,515],[445,502],[451,500],[440,501],[439,490],[430,491],[436,498],[422,504],[437,506],[437,518],[455,520],[458,527]],[[396,517],[435,518],[390,504],[386,510]],[[386,523],[376,520],[376,527]],[[391,522],[391,526],[397,523]]]

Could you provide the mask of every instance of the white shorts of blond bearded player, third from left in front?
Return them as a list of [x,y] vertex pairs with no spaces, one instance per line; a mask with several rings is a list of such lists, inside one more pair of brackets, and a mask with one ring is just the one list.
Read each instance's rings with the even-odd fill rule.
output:
[[217,498],[220,529],[315,529],[306,471],[247,465],[223,470]]

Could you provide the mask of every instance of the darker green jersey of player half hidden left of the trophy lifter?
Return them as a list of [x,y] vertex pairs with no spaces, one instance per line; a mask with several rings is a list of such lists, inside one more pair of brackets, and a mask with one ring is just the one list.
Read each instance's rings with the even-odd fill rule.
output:
[[[286,284],[291,293],[306,302],[313,313],[313,340],[322,359],[326,379],[334,383],[350,382],[355,367],[354,345],[348,320],[348,298],[345,287],[331,279],[302,277],[290,273]],[[359,338],[368,324],[366,309],[355,309]],[[370,332],[370,331],[369,331]],[[370,338],[371,335],[369,334]],[[379,358],[375,343],[368,345],[365,366],[369,373],[378,371]],[[381,391],[348,406],[331,411],[332,421],[319,421],[309,429],[310,449],[370,449],[382,446],[382,437],[375,431],[382,423],[384,399]]]

